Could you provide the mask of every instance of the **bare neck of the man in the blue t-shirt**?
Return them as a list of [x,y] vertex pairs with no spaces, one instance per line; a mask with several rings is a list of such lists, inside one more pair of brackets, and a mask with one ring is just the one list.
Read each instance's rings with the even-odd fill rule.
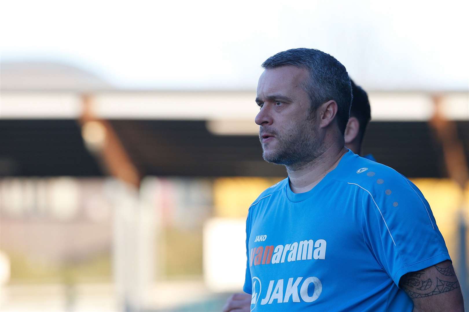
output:
[[316,186],[327,173],[333,171],[347,148],[329,147],[321,156],[300,167],[287,167],[290,188],[293,193],[305,193]]

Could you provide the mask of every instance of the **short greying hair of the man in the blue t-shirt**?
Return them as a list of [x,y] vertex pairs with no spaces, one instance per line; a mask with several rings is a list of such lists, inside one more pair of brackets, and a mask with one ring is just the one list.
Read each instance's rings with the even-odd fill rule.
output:
[[311,100],[311,116],[321,104],[330,100],[337,103],[337,122],[343,135],[352,102],[352,87],[347,69],[333,56],[317,49],[307,48],[279,52],[266,59],[262,63],[262,68],[269,69],[286,65],[306,67],[310,72],[310,79],[303,88]]

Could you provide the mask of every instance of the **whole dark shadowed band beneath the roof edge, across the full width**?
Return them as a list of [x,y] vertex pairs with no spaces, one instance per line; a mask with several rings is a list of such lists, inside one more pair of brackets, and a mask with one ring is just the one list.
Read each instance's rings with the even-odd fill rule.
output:
[[[265,163],[256,136],[211,134],[204,121],[111,120],[132,161],[144,175],[286,176]],[[469,160],[469,121],[458,121]],[[0,175],[103,176],[83,144],[75,120],[0,119]],[[441,146],[426,122],[371,122],[364,154],[405,176],[446,177]]]

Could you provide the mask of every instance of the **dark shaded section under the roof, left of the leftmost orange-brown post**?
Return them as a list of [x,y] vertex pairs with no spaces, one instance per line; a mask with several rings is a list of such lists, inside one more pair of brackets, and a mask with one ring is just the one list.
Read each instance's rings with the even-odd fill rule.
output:
[[76,120],[0,119],[0,176],[102,176]]

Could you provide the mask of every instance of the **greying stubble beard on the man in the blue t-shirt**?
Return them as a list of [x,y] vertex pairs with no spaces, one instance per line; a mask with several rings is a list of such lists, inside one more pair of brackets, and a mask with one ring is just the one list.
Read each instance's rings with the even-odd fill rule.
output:
[[[260,129],[259,134],[260,132],[262,132],[262,129]],[[297,168],[314,162],[324,152],[318,132],[310,125],[296,126],[281,135],[275,133],[277,146],[275,150],[268,153],[265,152],[261,135],[259,135],[259,140],[264,160],[268,163],[284,165],[287,168]]]

